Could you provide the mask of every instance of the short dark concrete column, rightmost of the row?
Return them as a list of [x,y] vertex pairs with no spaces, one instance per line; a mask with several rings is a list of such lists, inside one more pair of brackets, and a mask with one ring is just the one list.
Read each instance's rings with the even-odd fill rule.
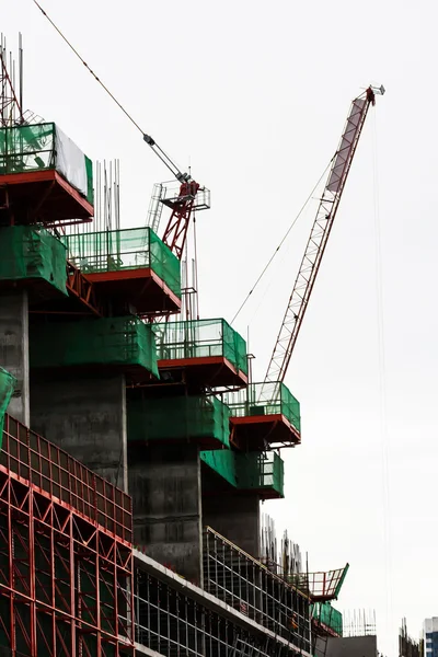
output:
[[260,499],[257,495],[206,495],[203,497],[203,520],[253,556],[260,558]]

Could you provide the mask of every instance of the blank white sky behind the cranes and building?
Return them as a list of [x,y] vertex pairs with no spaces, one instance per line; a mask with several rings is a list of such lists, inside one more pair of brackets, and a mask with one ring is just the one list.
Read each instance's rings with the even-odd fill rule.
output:
[[[401,618],[417,634],[438,613],[435,4],[42,2],[145,131],[211,188],[212,209],[197,222],[205,318],[231,320],[332,157],[350,100],[370,82],[385,85],[287,378],[302,446],[284,453],[286,499],[264,510],[309,551],[311,568],[351,564],[338,608],[376,609],[380,648],[395,656]],[[2,7],[9,44],[19,30],[24,37],[25,106],[92,159],[122,160],[123,224],[142,226],[166,170],[31,0]],[[243,335],[250,324],[258,378],[314,210],[235,324]]]

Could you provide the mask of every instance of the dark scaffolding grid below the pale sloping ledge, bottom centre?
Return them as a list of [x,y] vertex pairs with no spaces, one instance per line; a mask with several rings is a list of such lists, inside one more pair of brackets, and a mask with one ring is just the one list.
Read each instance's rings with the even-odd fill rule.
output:
[[165,657],[307,655],[143,555],[136,558],[134,600],[137,645]]

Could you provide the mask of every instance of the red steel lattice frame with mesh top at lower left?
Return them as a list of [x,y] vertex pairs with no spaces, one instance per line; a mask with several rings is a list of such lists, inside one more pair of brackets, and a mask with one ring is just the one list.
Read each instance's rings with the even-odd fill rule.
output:
[[0,650],[134,655],[130,498],[7,416],[0,460]]

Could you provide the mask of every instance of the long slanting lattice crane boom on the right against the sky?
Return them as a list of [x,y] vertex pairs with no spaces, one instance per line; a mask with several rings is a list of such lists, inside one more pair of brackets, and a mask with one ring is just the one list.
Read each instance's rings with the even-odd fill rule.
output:
[[327,245],[328,237],[339,207],[345,183],[370,105],[376,104],[376,93],[383,95],[384,88],[369,87],[355,99],[348,113],[338,149],[332,160],[324,193],[306,246],[304,256],[290,295],[280,331],[270,357],[265,383],[284,381],[290,357],[301,328],[302,320]]

